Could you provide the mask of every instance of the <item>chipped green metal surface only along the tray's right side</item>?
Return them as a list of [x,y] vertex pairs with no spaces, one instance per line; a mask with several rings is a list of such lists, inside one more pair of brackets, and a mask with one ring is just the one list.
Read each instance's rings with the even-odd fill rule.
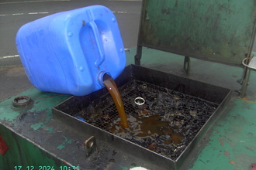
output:
[[[248,169],[256,160],[256,101],[235,100],[227,117],[217,122],[206,146],[189,169]],[[251,161],[250,161],[251,160]],[[244,167],[247,162],[247,167]]]

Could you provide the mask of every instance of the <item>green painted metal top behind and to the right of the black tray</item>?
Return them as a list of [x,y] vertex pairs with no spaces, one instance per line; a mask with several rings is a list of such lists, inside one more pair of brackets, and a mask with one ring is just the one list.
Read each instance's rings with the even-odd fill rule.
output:
[[[130,49],[127,62],[133,63],[136,48]],[[143,48],[142,66],[154,68],[178,76],[189,77],[206,83],[237,90],[240,85],[236,80],[242,69],[220,63],[192,59],[192,73],[188,76],[182,70],[182,57],[155,49]],[[255,53],[252,53],[255,55]],[[156,57],[157,56],[157,57]],[[207,69],[205,69],[207,68]],[[202,71],[204,70],[204,71]],[[218,70],[218,71],[216,71]],[[256,163],[256,72],[251,73],[251,81],[247,90],[247,98],[241,99],[234,93],[230,105],[223,112],[206,143],[195,146],[192,161],[187,162],[182,170],[248,170]],[[197,153],[196,153],[197,152]]]

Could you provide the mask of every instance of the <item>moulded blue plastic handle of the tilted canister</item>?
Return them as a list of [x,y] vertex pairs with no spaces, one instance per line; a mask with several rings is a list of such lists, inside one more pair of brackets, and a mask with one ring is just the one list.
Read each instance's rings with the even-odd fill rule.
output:
[[88,16],[89,16],[89,19],[90,19],[90,22],[88,23],[88,25],[92,28],[92,32],[94,34],[97,47],[99,49],[99,59],[97,61],[95,61],[95,66],[98,67],[105,59],[105,51],[104,51],[104,48],[103,48],[103,45],[102,45],[102,39],[99,35],[98,26],[94,22],[94,19],[92,18],[92,14],[91,14],[90,10],[88,10]]

